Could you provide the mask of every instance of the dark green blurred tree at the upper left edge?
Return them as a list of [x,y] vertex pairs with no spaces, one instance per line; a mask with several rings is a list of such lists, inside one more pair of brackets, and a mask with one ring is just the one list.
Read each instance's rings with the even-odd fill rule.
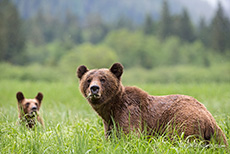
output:
[[18,10],[11,1],[0,1],[0,19],[0,61],[21,64],[25,35]]

